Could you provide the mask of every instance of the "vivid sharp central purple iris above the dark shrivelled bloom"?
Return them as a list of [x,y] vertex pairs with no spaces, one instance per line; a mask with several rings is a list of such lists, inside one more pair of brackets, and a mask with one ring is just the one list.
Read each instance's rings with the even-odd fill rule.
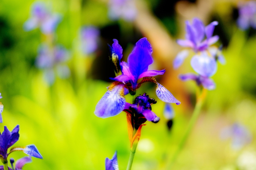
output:
[[[148,70],[148,66],[153,63],[153,58],[151,56],[153,50],[150,43],[147,41],[147,38],[142,38],[136,43],[136,46],[128,56],[128,63],[124,61],[121,62],[123,49],[116,39],[113,41],[112,61],[114,61],[114,65],[117,66],[117,69],[121,70],[117,71],[119,75],[113,78],[116,82],[108,87],[108,91],[96,105],[94,112],[96,116],[106,118],[121,113],[124,110],[126,103],[124,96],[128,93],[135,95],[136,90],[144,82],[153,82],[157,84],[156,94],[162,101],[176,103],[177,105],[180,104],[180,102],[174,98],[172,93],[159,84],[153,77],[156,75],[163,75],[165,70]],[[138,83],[138,80],[141,78],[143,79]]]

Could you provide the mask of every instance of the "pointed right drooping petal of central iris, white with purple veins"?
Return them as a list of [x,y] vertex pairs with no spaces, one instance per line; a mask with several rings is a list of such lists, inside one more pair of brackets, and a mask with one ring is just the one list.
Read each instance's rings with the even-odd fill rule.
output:
[[156,88],[156,94],[157,97],[166,103],[176,103],[176,105],[180,104],[180,101],[178,101],[170,91],[168,91],[165,87],[163,87],[161,84],[157,83]]

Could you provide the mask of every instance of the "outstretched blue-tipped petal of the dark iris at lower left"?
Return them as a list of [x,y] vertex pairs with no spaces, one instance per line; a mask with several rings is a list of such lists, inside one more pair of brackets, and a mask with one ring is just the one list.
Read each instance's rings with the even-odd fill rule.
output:
[[27,155],[34,156],[35,158],[43,159],[42,155],[39,153],[39,151],[37,150],[37,147],[35,147],[34,144],[27,145],[25,147],[13,147],[11,148],[10,153],[14,151],[23,151]]

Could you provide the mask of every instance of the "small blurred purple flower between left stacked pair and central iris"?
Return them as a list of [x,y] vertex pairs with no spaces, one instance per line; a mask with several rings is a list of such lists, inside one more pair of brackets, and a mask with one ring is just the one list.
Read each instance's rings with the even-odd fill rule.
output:
[[98,48],[99,29],[93,26],[81,30],[82,50],[84,54],[94,53]]

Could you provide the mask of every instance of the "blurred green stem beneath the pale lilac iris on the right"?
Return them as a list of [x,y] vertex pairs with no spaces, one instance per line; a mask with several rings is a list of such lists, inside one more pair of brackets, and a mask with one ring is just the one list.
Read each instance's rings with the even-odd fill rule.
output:
[[198,116],[200,114],[200,110],[202,108],[202,104],[203,104],[203,101],[204,101],[205,97],[206,97],[206,89],[203,89],[201,91],[200,95],[197,95],[196,106],[195,106],[195,109],[193,111],[192,117],[191,117],[191,119],[189,121],[187,130],[185,131],[185,134],[182,137],[181,142],[178,145],[178,148],[177,148],[176,152],[173,155],[173,158],[172,158],[172,160],[171,160],[171,162],[169,164],[169,167],[167,168],[168,170],[171,169],[173,163],[176,161],[176,159],[178,158],[178,155],[180,154],[182,148],[184,147],[184,144],[187,141],[188,136],[191,133],[191,131],[192,131],[192,129],[193,129],[195,123],[196,123],[196,120],[197,120],[197,118],[198,118]]

